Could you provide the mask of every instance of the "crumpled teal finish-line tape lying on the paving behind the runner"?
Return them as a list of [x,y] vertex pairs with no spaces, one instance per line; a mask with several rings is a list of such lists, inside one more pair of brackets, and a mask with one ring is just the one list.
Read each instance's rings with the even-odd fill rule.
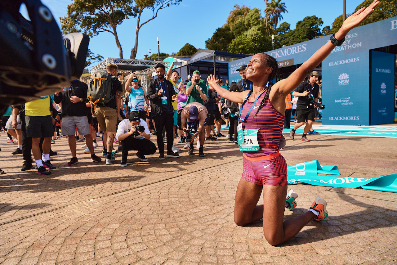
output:
[[349,178],[341,176],[318,176],[318,174],[340,175],[337,166],[320,165],[317,160],[287,167],[288,185],[310,184],[313,186],[363,188],[397,193],[397,174],[376,178]]

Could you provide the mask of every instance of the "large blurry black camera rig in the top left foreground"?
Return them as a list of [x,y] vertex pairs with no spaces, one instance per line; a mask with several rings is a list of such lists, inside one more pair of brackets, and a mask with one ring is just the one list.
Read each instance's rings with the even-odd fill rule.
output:
[[[22,3],[30,20],[19,13]],[[88,44],[83,33],[62,38],[40,0],[0,1],[0,112],[68,87],[83,73]]]

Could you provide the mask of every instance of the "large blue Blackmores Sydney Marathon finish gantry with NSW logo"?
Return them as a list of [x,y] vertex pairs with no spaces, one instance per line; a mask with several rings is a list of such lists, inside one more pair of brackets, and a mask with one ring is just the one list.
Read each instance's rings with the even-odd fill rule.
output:
[[[302,64],[327,43],[325,36],[266,52],[279,63]],[[323,124],[370,125],[370,50],[397,44],[397,17],[353,29],[341,46],[322,62]],[[229,62],[229,81],[238,81],[239,65],[250,57]],[[291,61],[292,62],[292,61]],[[282,66],[281,66],[282,67]]]

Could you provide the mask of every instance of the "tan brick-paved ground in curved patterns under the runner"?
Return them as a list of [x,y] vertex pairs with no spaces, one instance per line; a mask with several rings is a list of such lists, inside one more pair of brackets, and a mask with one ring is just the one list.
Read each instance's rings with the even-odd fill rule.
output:
[[[397,139],[309,135],[287,140],[288,165],[318,159],[341,176],[371,178],[397,172]],[[328,201],[328,219],[310,222],[295,238],[270,246],[262,221],[233,222],[242,159],[225,138],[205,145],[199,158],[128,166],[71,158],[56,140],[52,174],[20,171],[16,144],[0,139],[0,264],[397,264],[397,194],[362,189],[294,185],[306,211],[316,195]],[[78,145],[79,147],[80,145]],[[181,144],[177,146],[181,147]],[[99,149],[98,149],[99,153]],[[119,155],[118,155],[119,159]],[[263,199],[260,199],[260,202]]]

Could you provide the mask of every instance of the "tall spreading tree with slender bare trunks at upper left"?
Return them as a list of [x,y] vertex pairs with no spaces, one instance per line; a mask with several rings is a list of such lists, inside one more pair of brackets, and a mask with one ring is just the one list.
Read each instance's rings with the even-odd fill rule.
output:
[[[119,56],[123,58],[123,49],[119,42],[117,26],[124,19],[137,17],[135,32],[135,46],[131,50],[131,58],[135,58],[138,47],[139,29],[150,20],[157,17],[160,9],[178,4],[181,0],[74,0],[67,6],[67,15],[60,17],[64,34],[84,32],[89,36],[96,36],[100,32],[109,32],[114,35],[119,48]],[[141,23],[143,10],[153,11],[152,17]]]

